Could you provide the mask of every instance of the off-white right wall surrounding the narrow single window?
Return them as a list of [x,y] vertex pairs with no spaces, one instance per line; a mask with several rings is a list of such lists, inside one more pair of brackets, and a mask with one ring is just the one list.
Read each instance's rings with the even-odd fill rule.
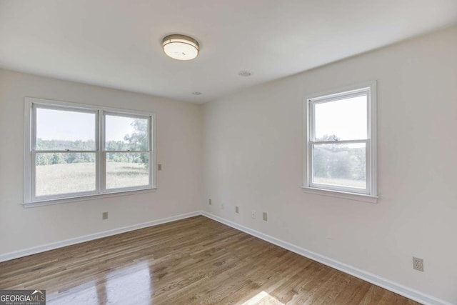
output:
[[[457,304],[456,56],[453,26],[206,104],[204,209]],[[303,97],[373,79],[378,203],[305,193]]]

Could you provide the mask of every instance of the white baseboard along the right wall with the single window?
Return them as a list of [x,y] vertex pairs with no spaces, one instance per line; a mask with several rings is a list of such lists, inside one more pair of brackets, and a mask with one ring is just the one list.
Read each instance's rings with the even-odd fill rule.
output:
[[229,221],[227,219],[223,219],[219,216],[210,214],[206,211],[202,211],[201,214],[203,216],[208,217],[209,219],[219,221],[221,224],[226,224],[227,226],[231,226],[234,229],[243,231],[252,236],[256,236],[259,239],[268,241],[269,243],[275,244],[276,246],[280,246],[283,249],[287,249],[289,251],[295,252],[296,254],[305,256],[308,259],[313,259],[313,261],[318,261],[319,263],[330,266],[334,269],[338,269],[339,271],[343,271],[346,274],[351,274],[352,276],[356,276],[358,279],[363,279],[363,281],[368,281],[369,283],[375,284],[376,286],[381,286],[384,289],[393,291],[396,294],[400,294],[401,296],[406,296],[408,299],[418,301],[419,303],[430,304],[430,305],[453,305],[447,301],[443,301],[434,296],[430,296],[428,294],[423,294],[421,291],[411,289],[409,287],[395,283],[388,279],[383,279],[381,276],[377,276],[376,274],[371,274],[370,272],[363,271],[354,266],[350,266],[348,264],[341,263],[340,261],[336,261],[327,256],[323,256],[316,252],[303,249],[303,248],[301,248],[299,246],[295,246],[293,244],[289,244],[286,241],[281,241],[280,239],[276,239],[273,236],[263,234],[259,231],[250,229],[247,226],[242,226],[241,224],[236,224],[236,222]]

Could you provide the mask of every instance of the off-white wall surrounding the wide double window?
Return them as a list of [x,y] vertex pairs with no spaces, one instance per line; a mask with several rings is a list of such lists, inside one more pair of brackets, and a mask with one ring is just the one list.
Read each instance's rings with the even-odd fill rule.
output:
[[[25,209],[25,96],[156,113],[156,191]],[[0,254],[199,211],[201,125],[199,105],[0,69]]]

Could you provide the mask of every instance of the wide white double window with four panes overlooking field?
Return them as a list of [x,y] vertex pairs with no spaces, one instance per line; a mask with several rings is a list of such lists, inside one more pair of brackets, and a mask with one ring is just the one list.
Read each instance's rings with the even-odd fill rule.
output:
[[154,114],[26,98],[25,204],[154,189]]

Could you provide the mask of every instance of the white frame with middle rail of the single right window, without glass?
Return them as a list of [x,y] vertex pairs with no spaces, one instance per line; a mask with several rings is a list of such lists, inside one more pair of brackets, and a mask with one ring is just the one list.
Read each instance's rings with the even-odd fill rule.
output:
[[[331,101],[367,96],[367,137],[340,141],[315,141],[314,106]],[[339,89],[311,94],[303,99],[303,189],[312,194],[336,196],[345,199],[376,202],[377,196],[377,130],[376,130],[376,81],[368,81]],[[313,145],[366,144],[366,189],[313,183]]]

